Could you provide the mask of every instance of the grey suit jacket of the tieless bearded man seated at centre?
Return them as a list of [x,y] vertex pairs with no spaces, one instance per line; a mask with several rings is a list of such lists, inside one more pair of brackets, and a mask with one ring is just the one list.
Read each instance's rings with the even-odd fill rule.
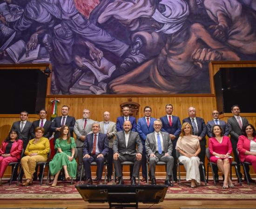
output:
[[[137,146],[137,150],[136,150]],[[143,145],[139,134],[135,131],[130,131],[128,145],[126,147],[124,131],[118,131],[115,134],[115,141],[113,143],[113,153],[116,152],[121,155],[136,155],[137,153],[142,154]]]

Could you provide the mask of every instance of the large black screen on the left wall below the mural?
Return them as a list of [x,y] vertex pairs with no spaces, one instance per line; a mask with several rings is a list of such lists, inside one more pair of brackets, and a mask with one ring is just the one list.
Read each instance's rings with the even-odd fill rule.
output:
[[47,75],[39,69],[0,70],[0,114],[37,114],[45,107]]

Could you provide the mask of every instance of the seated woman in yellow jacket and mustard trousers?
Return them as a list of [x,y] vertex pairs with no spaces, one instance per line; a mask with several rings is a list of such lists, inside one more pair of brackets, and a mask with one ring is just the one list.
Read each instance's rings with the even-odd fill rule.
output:
[[49,140],[43,137],[44,128],[36,127],[34,132],[35,138],[28,142],[24,152],[26,156],[22,157],[20,161],[26,177],[26,181],[22,186],[28,186],[33,183],[33,174],[35,172],[36,163],[47,161],[47,153],[50,151]]

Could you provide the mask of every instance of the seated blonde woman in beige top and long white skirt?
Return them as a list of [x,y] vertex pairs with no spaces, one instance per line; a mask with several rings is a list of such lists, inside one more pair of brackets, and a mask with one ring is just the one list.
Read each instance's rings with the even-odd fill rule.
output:
[[176,150],[181,154],[179,161],[184,164],[187,171],[186,180],[191,180],[191,188],[200,184],[198,154],[201,151],[197,136],[192,135],[192,127],[189,123],[182,124],[182,132],[176,144]]

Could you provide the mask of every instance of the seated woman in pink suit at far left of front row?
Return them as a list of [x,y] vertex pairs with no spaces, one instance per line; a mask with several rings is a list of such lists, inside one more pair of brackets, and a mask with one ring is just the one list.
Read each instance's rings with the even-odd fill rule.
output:
[[22,152],[23,141],[18,139],[17,131],[11,130],[0,149],[0,185],[9,163],[18,162]]

